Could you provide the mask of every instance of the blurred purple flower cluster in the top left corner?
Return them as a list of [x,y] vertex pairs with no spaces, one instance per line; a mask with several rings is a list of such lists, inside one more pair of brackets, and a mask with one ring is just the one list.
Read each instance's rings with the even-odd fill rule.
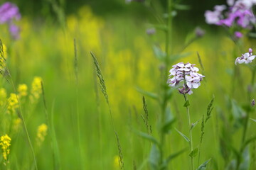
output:
[[19,38],[20,28],[14,24],[14,20],[21,19],[21,13],[18,11],[18,6],[11,2],[6,2],[0,6],[0,24],[8,24],[9,32],[14,40]]

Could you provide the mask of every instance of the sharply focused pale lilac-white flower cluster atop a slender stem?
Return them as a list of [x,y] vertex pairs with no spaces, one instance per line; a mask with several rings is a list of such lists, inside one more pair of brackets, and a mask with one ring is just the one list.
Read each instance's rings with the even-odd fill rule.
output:
[[195,64],[179,62],[169,71],[168,84],[169,86],[178,86],[181,81],[184,81],[182,88],[178,91],[181,94],[193,94],[192,89],[197,89],[204,77],[198,71],[199,69],[195,67]]

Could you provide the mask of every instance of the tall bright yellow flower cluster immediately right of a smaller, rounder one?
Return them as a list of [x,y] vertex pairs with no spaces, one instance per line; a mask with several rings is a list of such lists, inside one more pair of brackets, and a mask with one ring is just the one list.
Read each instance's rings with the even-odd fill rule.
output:
[[40,94],[42,93],[41,81],[41,77],[34,77],[33,79],[31,95],[29,96],[31,103],[36,103],[38,98],[40,98]]

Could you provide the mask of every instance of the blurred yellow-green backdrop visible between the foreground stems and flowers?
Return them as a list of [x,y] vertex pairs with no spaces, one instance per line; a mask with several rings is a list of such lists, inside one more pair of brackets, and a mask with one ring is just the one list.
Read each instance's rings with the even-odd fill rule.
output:
[[[0,1],[3,4],[5,1]],[[139,2],[127,4],[122,0],[97,1],[36,1],[17,0],[15,3],[22,15],[17,25],[21,28],[21,38],[11,40],[7,26],[0,25],[0,38],[6,45],[7,64],[15,86],[27,84],[28,91],[34,77],[42,77],[46,103],[50,119],[53,120],[56,143],[58,144],[59,166],[61,169],[119,169],[118,152],[112,130],[110,113],[97,84],[95,68],[90,51],[99,60],[110,98],[110,106],[115,129],[119,135],[125,169],[144,165],[151,144],[137,136],[131,129],[146,131],[142,94],[137,89],[157,93],[161,80],[161,62],[154,57],[153,45],[164,49],[164,33],[156,30],[147,35],[151,23],[157,23],[154,13]],[[165,11],[166,2],[156,1],[156,12]],[[178,11],[174,18],[173,52],[178,53],[183,44],[193,35],[197,26],[206,30],[206,35],[186,47],[187,57],[176,62],[191,62],[199,67],[198,52],[206,75],[199,89],[189,96],[191,100],[192,122],[206,113],[210,99],[215,96],[215,106],[202,145],[202,159],[212,158],[208,169],[223,169],[225,153],[221,139],[230,135],[230,141],[238,146],[242,130],[230,132],[225,129],[233,121],[230,96],[235,102],[246,103],[246,84],[249,79],[233,80],[235,58],[255,47],[255,40],[243,38],[244,44],[238,49],[225,36],[225,30],[205,23],[204,11],[212,10],[223,1],[183,1],[191,9]],[[78,86],[74,72],[74,38],[78,54]],[[175,64],[175,63],[173,63]],[[168,66],[171,69],[171,65]],[[247,67],[241,66],[241,77],[249,74]],[[166,78],[167,79],[167,78]],[[231,90],[232,84],[238,89]],[[4,78],[1,86],[7,96],[13,93],[11,85]],[[78,90],[78,93],[77,93]],[[252,96],[255,94],[252,94]],[[39,169],[53,169],[53,148],[50,136],[46,135],[41,146],[36,144],[38,125],[46,123],[43,99],[40,98],[33,110],[29,108],[28,97],[24,99],[23,114],[28,125],[28,133],[36,150]],[[153,135],[157,138],[157,123],[160,108],[156,101],[146,97],[149,121]],[[228,103],[228,104],[227,104]],[[187,134],[187,119],[183,108],[183,96],[175,92],[169,102],[171,112],[176,117],[174,128]],[[80,141],[78,147],[77,112],[80,113]],[[6,115],[1,115],[4,127]],[[223,128],[224,127],[224,128]],[[253,134],[255,125],[251,125]],[[193,131],[195,145],[200,140],[201,128]],[[228,131],[228,132],[225,132]],[[6,128],[1,128],[5,134]],[[33,169],[33,157],[22,127],[11,135],[10,169]],[[240,139],[240,138],[239,138]],[[186,141],[171,130],[166,138],[166,154],[188,147]],[[170,164],[171,169],[188,169],[189,151],[184,152]],[[224,154],[223,154],[224,153]],[[223,156],[224,155],[224,156]],[[231,157],[231,156],[230,156]],[[79,160],[82,160],[81,162]],[[6,166],[1,165],[4,169]]]

